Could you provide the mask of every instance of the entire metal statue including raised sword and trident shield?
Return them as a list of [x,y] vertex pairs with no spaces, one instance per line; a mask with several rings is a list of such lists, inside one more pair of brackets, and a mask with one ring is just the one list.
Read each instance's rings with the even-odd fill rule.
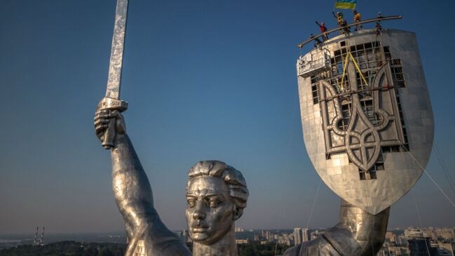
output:
[[[121,115],[128,107],[120,100],[127,9],[128,0],[117,1],[107,92],[95,113],[95,133],[111,150],[112,189],[128,238],[125,255],[191,255],[158,216]],[[339,224],[290,248],[287,256],[376,254],[391,204],[426,166],[433,113],[415,36],[381,33],[379,41],[373,30],[334,37],[297,62],[308,155],[342,200]],[[238,255],[234,223],[248,198],[243,175],[220,161],[198,162],[188,175],[193,255]]]

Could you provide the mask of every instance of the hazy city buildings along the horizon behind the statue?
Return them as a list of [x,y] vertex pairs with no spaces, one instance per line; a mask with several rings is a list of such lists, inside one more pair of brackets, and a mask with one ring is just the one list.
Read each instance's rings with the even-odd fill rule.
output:
[[[75,243],[80,248],[87,247],[90,243],[108,243],[116,245],[118,255],[123,255],[125,250],[125,236],[123,234],[73,234],[73,235],[50,235],[36,233],[34,237],[24,236],[1,236],[0,255],[10,255],[20,248],[43,247],[44,245],[61,243]],[[236,243],[239,247],[239,255],[245,253],[245,248],[253,245],[269,245],[272,248],[271,255],[278,249],[285,250],[299,243],[311,241],[327,229],[307,229],[295,227],[294,229],[243,229],[236,227]],[[175,231],[175,233],[187,245],[191,246],[191,238],[188,231]],[[7,238],[9,237],[9,238]],[[71,242],[69,242],[71,241]],[[85,245],[84,245],[85,244]],[[279,247],[278,247],[279,246]],[[18,248],[18,249],[16,249]],[[244,250],[242,250],[244,249]],[[275,251],[277,250],[277,251]],[[111,255],[117,255],[111,249]],[[262,252],[265,253],[265,252]],[[379,256],[454,256],[455,255],[455,227],[407,227],[388,230],[386,239],[379,252]],[[266,254],[264,254],[266,255]]]

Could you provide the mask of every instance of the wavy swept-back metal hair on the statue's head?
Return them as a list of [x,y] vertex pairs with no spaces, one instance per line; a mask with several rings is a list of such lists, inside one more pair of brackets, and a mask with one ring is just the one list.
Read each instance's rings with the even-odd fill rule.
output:
[[191,179],[201,176],[219,177],[224,180],[229,186],[229,194],[241,215],[243,208],[247,207],[249,192],[247,182],[245,182],[245,178],[239,170],[226,165],[222,161],[199,161],[188,171],[186,191],[188,191]]

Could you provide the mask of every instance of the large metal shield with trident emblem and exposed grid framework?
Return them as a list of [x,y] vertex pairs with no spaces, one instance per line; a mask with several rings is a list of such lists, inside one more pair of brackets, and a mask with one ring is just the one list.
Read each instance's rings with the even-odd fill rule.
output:
[[433,112],[414,33],[337,36],[297,62],[308,155],[322,180],[371,214],[423,173]]

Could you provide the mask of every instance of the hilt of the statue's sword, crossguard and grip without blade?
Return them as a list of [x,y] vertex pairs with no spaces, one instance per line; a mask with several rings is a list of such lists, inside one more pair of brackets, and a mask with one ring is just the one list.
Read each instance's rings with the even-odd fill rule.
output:
[[[123,100],[117,100],[112,97],[104,97],[100,104],[98,104],[97,109],[109,109],[109,110],[117,110],[118,112],[124,112],[128,108],[128,102],[124,102]],[[101,144],[104,149],[111,149],[114,147],[116,131],[115,131],[115,119],[110,119],[109,124],[107,126],[104,135],[101,137]]]

